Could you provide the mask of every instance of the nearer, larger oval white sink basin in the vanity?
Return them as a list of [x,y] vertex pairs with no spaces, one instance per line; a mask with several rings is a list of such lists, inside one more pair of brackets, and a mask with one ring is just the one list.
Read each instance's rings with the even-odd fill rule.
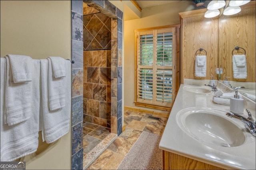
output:
[[225,111],[206,107],[190,107],[176,115],[179,127],[204,144],[238,147],[245,142],[242,127],[230,121]]

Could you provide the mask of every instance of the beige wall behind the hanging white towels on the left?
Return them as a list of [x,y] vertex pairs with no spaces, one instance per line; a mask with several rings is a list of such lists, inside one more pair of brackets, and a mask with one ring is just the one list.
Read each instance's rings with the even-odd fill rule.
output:
[[[71,1],[1,0],[0,6],[0,57],[20,54],[33,59],[71,59]],[[39,141],[36,153],[20,159],[26,161],[26,169],[71,168],[71,129],[50,145],[41,138]]]

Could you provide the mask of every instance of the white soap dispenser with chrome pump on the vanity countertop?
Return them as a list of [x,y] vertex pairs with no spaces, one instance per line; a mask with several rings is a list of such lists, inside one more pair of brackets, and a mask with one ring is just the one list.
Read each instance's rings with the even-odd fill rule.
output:
[[238,90],[235,90],[234,98],[230,98],[230,111],[237,114],[244,113],[244,99],[238,95]]

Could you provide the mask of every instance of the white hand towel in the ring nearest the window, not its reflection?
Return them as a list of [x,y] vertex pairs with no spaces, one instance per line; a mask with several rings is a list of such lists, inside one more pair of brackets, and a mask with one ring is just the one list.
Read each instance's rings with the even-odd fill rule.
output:
[[197,77],[206,77],[206,56],[205,55],[196,56],[195,76],[197,76]]

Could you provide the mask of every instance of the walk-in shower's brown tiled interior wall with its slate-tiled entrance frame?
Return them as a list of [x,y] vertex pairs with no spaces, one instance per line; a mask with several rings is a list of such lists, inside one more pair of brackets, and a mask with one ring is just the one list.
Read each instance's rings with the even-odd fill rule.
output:
[[[92,7],[86,14],[83,2]],[[82,169],[84,121],[122,133],[123,12],[108,0],[72,0],[71,14],[72,169]],[[84,24],[84,16],[96,23]],[[94,29],[97,24],[102,26]]]

